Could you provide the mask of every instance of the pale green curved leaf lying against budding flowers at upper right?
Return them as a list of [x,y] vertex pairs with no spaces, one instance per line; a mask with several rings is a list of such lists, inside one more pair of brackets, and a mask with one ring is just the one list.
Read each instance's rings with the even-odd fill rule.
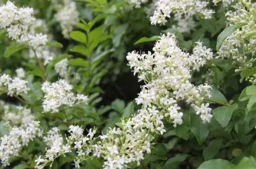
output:
[[229,27],[226,27],[218,36],[216,49],[219,50],[221,47],[222,42],[228,38],[236,29],[239,29],[243,26],[243,24],[236,24]]

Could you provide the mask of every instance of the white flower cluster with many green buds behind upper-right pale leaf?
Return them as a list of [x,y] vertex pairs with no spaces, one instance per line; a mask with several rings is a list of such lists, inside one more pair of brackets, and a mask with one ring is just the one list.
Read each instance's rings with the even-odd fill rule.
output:
[[243,24],[224,40],[218,57],[232,58],[236,71],[251,68],[256,61],[256,2],[240,0],[226,13],[229,25]]

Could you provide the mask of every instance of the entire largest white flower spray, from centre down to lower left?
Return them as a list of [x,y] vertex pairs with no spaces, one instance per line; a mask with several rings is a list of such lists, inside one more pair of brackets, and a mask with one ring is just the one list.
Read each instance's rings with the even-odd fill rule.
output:
[[[76,152],[76,168],[90,156],[103,158],[104,169],[125,169],[129,163],[140,165],[144,154],[151,152],[155,135],[166,132],[163,119],[172,121],[174,126],[182,124],[183,113],[178,105],[180,101],[190,104],[195,113],[200,114],[203,122],[211,119],[211,108],[208,103],[203,103],[204,98],[211,97],[211,87],[207,84],[195,87],[189,82],[193,66],[202,65],[202,60],[197,62],[198,58],[201,56],[207,60],[205,54],[210,53],[210,50],[198,42],[192,55],[197,55],[199,50],[202,53],[195,57],[178,48],[173,34],[168,33],[160,38],[153,49],[154,54],[148,52],[139,55],[132,52],[127,56],[129,65],[134,68],[135,74],[138,73],[139,80],[146,83],[136,99],[138,104],[143,104],[137,114],[122,120],[120,128],[109,128],[105,135],[99,137],[94,137],[95,129],[90,129],[84,136],[81,127],[69,126],[70,136],[66,137],[66,146],[68,150]],[[58,154],[59,149],[55,149]],[[64,154],[64,151],[61,153]],[[53,160],[45,156],[37,160],[37,166],[45,166]]]

